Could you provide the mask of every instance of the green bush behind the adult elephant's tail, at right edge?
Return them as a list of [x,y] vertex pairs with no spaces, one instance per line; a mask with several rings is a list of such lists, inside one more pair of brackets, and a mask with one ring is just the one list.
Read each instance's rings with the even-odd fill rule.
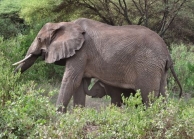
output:
[[[186,47],[185,45],[175,45],[172,48],[172,58],[174,61],[175,72],[180,80],[183,92],[194,96],[194,53],[193,46]],[[174,81],[174,78],[169,79],[169,89],[178,91],[179,88]]]

